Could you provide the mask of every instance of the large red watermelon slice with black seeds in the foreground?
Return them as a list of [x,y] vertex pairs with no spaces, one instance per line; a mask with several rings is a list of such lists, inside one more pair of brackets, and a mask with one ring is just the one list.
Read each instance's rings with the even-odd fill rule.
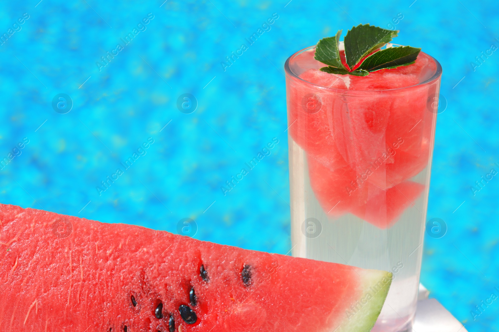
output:
[[0,205],[0,331],[368,332],[391,273]]

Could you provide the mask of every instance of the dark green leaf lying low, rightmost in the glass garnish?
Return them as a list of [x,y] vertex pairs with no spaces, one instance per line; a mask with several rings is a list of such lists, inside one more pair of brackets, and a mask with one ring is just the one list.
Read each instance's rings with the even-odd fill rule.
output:
[[421,48],[411,46],[386,48],[384,50],[374,52],[368,56],[364,61],[362,61],[358,69],[374,72],[380,69],[407,66],[416,61],[420,51]]

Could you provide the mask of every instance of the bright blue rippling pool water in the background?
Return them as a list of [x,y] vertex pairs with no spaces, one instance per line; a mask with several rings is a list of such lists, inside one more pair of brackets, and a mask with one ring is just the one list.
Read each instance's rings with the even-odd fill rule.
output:
[[[29,143],[0,171],[0,202],[172,232],[191,218],[196,238],[285,254],[284,61],[353,24],[391,28],[401,13],[397,42],[422,47],[444,71],[428,219],[448,230],[425,236],[421,279],[469,331],[499,331],[499,299],[471,314],[499,295],[499,177],[471,189],[499,171],[499,51],[476,59],[499,47],[498,2],[287,1],[3,1],[1,34],[29,18],[0,46],[0,156]],[[124,49],[98,66],[118,43]],[[61,93],[73,102],[66,114],[51,105]],[[184,93],[197,100],[191,114],[177,108]],[[149,137],[146,154],[99,193]],[[224,195],[274,137],[270,155]]]

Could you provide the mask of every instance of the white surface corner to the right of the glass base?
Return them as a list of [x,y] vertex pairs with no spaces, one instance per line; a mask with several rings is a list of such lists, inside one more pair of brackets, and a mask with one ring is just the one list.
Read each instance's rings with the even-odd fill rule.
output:
[[467,332],[450,312],[436,299],[428,299],[430,292],[419,284],[418,308],[412,332]]

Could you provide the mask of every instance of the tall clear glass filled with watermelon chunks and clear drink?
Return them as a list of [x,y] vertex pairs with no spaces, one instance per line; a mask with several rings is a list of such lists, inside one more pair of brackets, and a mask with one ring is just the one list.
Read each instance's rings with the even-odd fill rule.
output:
[[373,331],[410,331],[442,68],[421,52],[390,73],[332,75],[314,52],[284,66],[293,255],[391,271]]

